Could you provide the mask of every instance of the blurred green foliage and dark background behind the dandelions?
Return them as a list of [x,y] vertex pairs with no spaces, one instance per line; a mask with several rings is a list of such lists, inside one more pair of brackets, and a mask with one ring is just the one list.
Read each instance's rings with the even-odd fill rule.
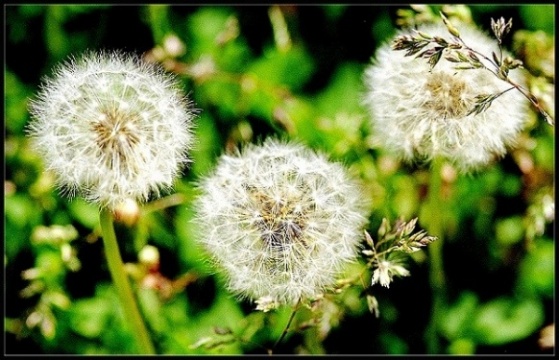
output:
[[[255,312],[254,304],[223,289],[192,236],[196,180],[221,153],[240,144],[291,138],[344,162],[366,184],[373,236],[383,217],[419,216],[425,227],[421,206],[429,168],[402,164],[371,144],[362,76],[406,14],[440,9],[417,14],[406,6],[357,5],[5,6],[5,352],[134,351],[104,260],[97,209],[61,197],[25,137],[28,99],[55,64],[85,50],[120,49],[145,54],[177,74],[200,109],[193,163],[177,180],[178,196],[167,198],[175,206],[147,206],[136,225],[117,228],[123,257],[137,285],[143,284],[140,303],[159,353],[263,353],[280,335],[290,309]],[[505,46],[532,74],[532,91],[549,94],[553,6],[445,10],[486,31],[491,18],[512,17]],[[517,149],[503,160],[468,176],[449,169],[441,210],[448,225],[448,304],[436,329],[429,330],[438,334],[440,352],[552,353],[540,339],[555,320],[554,170],[554,128],[536,112]],[[160,256],[149,278],[139,256],[146,245]],[[299,330],[274,352],[426,353],[429,256],[415,255],[407,263],[410,277],[395,279],[389,289],[349,288],[321,310],[318,325],[303,326],[312,314],[298,313]],[[378,318],[367,307],[370,292],[379,302]]]

